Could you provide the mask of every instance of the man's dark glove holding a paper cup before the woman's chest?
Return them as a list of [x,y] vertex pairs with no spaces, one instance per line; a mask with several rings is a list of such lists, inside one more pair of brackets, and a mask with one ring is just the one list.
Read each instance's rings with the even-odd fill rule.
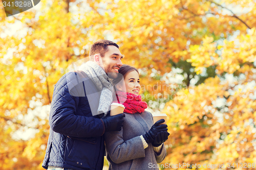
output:
[[125,117],[124,113],[101,118],[105,125],[105,132],[120,131],[124,122],[123,117]]

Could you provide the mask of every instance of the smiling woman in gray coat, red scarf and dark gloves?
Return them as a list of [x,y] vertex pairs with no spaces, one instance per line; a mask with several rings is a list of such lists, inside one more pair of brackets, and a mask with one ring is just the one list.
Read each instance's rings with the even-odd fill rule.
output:
[[125,106],[125,117],[121,131],[104,135],[109,169],[158,169],[157,163],[166,156],[163,142],[169,135],[167,125],[159,125],[164,119],[153,125],[152,114],[144,111],[147,104],[139,95],[138,70],[123,65],[118,72],[119,76],[113,80],[117,89],[113,102]]

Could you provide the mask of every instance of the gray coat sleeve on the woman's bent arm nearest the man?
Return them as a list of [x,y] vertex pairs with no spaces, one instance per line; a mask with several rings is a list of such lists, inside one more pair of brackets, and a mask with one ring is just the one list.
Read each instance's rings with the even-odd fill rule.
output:
[[140,136],[124,141],[122,129],[121,131],[107,132],[104,134],[104,138],[106,152],[116,164],[145,157],[145,150]]

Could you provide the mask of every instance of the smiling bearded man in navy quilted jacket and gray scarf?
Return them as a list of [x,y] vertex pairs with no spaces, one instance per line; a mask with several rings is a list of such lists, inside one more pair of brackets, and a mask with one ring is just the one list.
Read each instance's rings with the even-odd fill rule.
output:
[[89,55],[90,61],[80,71],[68,72],[54,87],[50,135],[42,163],[46,169],[102,169],[102,135],[123,126],[124,113],[104,116],[112,103],[109,77],[116,78],[122,65],[119,46],[100,40]]

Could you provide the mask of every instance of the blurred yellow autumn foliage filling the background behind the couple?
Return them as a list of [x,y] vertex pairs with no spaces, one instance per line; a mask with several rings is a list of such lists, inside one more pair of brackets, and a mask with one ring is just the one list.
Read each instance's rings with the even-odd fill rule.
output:
[[54,85],[99,39],[168,115],[161,164],[256,166],[255,0],[48,0],[10,17],[0,4],[0,169],[43,169]]

